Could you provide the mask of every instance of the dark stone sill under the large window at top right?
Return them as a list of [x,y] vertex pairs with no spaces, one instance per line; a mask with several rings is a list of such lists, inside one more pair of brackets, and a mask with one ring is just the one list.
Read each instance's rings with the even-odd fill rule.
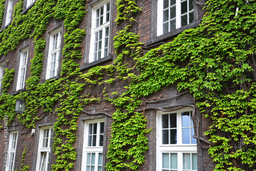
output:
[[154,37],[150,40],[148,40],[146,42],[146,46],[150,46],[150,45],[153,45],[153,44],[156,44],[160,41],[164,41],[166,39],[170,39],[170,38],[174,38],[176,37],[178,34],[180,34],[181,32],[183,32],[184,30],[188,30],[188,29],[191,29],[191,28],[195,28],[197,26],[199,26],[199,24],[201,23],[201,20],[197,20],[196,22],[194,23],[191,23],[189,25],[186,25],[186,26],[183,26],[179,29],[176,29],[172,32],[168,32],[168,33],[165,33],[163,35],[160,35],[160,36],[157,36],[157,37]]

